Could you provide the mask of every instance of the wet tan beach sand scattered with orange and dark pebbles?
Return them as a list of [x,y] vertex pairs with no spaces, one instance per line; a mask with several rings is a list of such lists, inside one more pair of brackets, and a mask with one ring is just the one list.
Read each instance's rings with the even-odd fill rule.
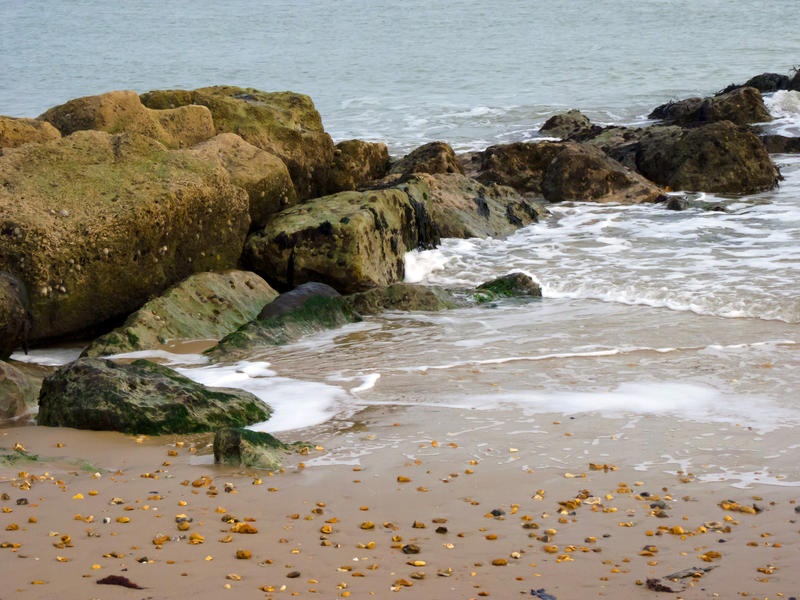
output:
[[[210,436],[2,429],[0,446],[41,459],[0,468],[0,598],[800,594],[796,487],[637,470],[658,450],[605,421],[542,417],[520,436],[513,423],[458,429],[459,415],[371,407],[338,430],[289,432],[322,449],[273,474],[210,464]],[[648,589],[685,569],[698,575],[658,582],[676,593]],[[143,589],[98,585],[109,575]]]

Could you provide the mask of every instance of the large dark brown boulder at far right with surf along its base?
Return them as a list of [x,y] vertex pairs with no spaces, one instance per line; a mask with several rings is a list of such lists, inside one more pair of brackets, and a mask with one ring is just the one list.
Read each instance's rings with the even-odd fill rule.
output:
[[772,189],[780,176],[761,140],[729,121],[648,127],[636,163],[642,175],[673,190],[753,194]]

